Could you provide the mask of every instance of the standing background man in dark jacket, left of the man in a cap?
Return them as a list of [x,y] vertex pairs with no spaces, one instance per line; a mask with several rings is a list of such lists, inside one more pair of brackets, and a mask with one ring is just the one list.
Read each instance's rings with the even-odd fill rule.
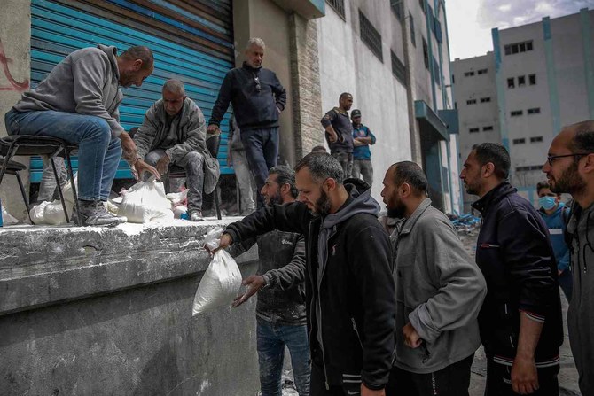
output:
[[352,105],[353,96],[343,92],[339,97],[339,106],[325,113],[321,120],[330,153],[340,162],[345,178],[353,173],[353,126],[348,120],[348,110]]

